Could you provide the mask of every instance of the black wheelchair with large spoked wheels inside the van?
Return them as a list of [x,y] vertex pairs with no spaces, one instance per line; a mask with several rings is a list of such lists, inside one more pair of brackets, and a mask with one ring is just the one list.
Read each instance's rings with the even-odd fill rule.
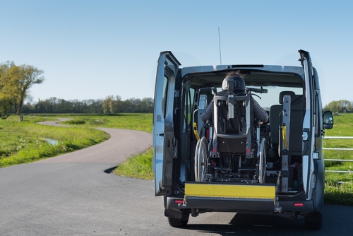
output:
[[208,135],[201,134],[196,144],[196,182],[265,184],[266,138],[253,117],[250,90],[214,95],[213,119],[203,131]]

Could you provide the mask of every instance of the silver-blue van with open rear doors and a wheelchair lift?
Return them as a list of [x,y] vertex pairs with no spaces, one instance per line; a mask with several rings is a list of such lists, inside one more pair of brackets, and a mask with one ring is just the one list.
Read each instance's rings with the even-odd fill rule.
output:
[[[182,67],[172,52],[160,53],[152,168],[169,225],[183,228],[200,213],[252,212],[303,216],[305,228],[321,228],[323,136],[333,114],[322,110],[309,52],[299,56],[298,66]],[[229,72],[244,78],[242,95],[232,83],[220,95]],[[256,122],[253,100],[268,122]],[[204,124],[209,104],[213,117]]]

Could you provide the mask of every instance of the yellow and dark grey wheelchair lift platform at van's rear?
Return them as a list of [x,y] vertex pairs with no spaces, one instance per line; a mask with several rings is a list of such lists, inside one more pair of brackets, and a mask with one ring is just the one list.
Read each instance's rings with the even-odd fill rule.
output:
[[273,211],[275,199],[275,185],[185,184],[186,208]]

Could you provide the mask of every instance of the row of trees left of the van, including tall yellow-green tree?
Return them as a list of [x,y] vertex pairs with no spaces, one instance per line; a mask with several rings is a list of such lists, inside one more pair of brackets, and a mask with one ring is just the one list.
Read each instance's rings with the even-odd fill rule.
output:
[[97,100],[64,100],[48,98],[27,102],[32,85],[44,81],[42,70],[26,64],[17,66],[13,61],[0,64],[0,114],[28,113],[152,113],[152,98],[121,100],[119,95],[109,95]]

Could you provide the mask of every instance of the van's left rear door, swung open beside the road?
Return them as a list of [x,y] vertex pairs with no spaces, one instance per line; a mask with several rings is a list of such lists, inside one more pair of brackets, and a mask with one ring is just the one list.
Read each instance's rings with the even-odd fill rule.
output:
[[175,80],[181,64],[172,52],[161,52],[158,59],[153,111],[153,163],[155,195],[165,195],[173,183],[173,158],[177,155],[173,110]]

